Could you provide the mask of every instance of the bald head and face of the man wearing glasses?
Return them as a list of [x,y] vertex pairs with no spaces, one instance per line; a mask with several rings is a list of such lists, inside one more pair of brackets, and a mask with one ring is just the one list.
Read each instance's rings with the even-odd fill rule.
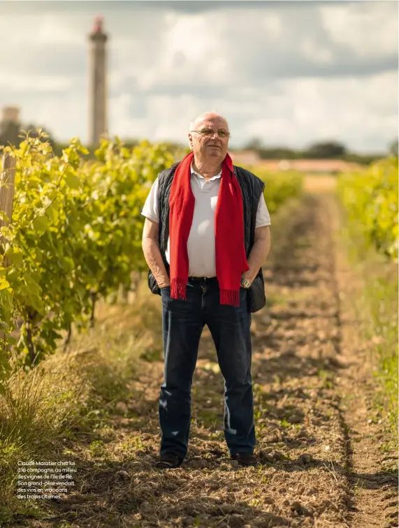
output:
[[203,117],[193,128],[196,132],[189,133],[189,142],[194,154],[200,159],[215,159],[222,163],[228,148],[228,127],[223,117]]

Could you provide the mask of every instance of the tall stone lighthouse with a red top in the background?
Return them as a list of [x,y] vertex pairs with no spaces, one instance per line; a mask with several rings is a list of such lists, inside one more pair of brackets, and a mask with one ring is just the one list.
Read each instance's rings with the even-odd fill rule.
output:
[[106,42],[103,17],[94,19],[89,34],[89,142],[98,145],[102,135],[108,135]]

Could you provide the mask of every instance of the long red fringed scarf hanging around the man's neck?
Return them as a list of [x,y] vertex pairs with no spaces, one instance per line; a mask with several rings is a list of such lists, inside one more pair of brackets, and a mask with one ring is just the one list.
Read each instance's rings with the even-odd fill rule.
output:
[[[169,198],[169,232],[171,237],[171,298],[187,300],[189,277],[187,240],[194,216],[195,198],[191,190],[190,152],[180,162]],[[244,211],[233,162],[227,154],[222,162],[222,177],[215,210],[216,275],[220,288],[220,304],[240,306],[242,272],[249,270],[244,245]]]

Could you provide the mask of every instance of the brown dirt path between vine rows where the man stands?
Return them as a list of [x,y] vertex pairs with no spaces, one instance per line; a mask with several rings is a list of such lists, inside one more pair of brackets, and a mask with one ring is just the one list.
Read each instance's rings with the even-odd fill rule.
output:
[[228,459],[223,383],[205,330],[183,467],[154,469],[162,363],[143,361],[134,397],[98,433],[98,449],[68,446],[80,466],[77,493],[55,506],[52,520],[30,526],[398,526],[392,453],[382,453],[383,434],[368,423],[372,376],[342,301],[350,275],[335,226],[328,193],[307,195],[273,226],[268,309],[252,323],[261,466]]

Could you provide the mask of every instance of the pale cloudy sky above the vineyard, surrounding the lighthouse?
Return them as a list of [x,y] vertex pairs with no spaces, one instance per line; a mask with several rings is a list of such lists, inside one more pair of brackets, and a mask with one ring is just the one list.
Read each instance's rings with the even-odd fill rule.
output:
[[237,148],[398,136],[398,1],[0,0],[0,105],[56,140],[89,138],[94,17],[108,34],[108,131],[187,145],[224,115]]

